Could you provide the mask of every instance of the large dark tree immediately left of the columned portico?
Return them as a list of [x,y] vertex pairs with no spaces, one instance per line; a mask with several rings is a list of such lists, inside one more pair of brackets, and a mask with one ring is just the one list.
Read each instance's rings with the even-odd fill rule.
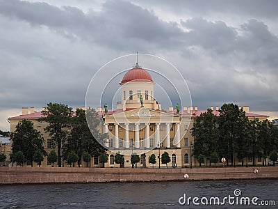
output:
[[[92,120],[94,120],[94,118],[92,118],[93,116],[97,117],[97,113],[94,109],[88,109],[86,114],[89,114]],[[95,123],[95,125],[97,124]],[[71,150],[74,150],[75,153],[79,155],[79,167],[84,152],[89,153],[91,156],[99,156],[106,151],[90,132],[83,109],[76,109],[76,114],[71,120],[71,127],[72,129],[63,150],[63,155],[67,156]],[[98,133],[96,136],[102,137],[101,135],[102,134]],[[106,135],[107,134],[104,134],[104,137],[107,138]]]

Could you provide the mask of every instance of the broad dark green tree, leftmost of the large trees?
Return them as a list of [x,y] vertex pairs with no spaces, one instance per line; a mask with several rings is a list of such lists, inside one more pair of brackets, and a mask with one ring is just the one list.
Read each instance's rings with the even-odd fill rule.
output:
[[[10,138],[13,141],[13,153],[22,151],[24,157],[26,157],[25,160],[30,161],[32,167],[36,150],[40,150],[43,155],[47,154],[43,148],[44,139],[42,134],[35,130],[31,121],[23,119],[22,122],[19,122],[15,127],[15,132],[10,134]],[[14,161],[14,155],[11,157]]]

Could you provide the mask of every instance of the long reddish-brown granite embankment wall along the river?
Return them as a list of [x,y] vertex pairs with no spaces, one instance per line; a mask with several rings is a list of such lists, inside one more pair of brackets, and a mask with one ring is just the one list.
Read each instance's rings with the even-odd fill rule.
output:
[[[254,169],[258,173],[254,173]],[[185,174],[188,178],[185,178]],[[187,177],[187,176],[186,176]],[[193,169],[0,167],[0,185],[278,178],[278,167]]]

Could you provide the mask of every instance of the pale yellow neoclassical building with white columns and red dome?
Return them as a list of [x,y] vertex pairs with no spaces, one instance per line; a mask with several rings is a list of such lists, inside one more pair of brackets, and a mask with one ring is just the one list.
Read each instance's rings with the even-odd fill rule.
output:
[[[102,133],[108,133],[108,139],[103,144],[108,148],[108,162],[105,167],[120,167],[119,164],[115,164],[115,153],[124,155],[124,167],[131,167],[131,155],[134,153],[140,156],[138,167],[153,167],[148,162],[152,154],[156,155],[154,167],[166,167],[159,157],[165,151],[170,156],[168,167],[198,165],[197,160],[191,155],[194,139],[190,129],[193,127],[195,118],[206,110],[199,110],[197,106],[181,107],[180,111],[174,107],[169,107],[167,110],[161,109],[161,104],[154,97],[155,81],[138,63],[128,70],[119,82],[121,101],[117,102],[117,108],[107,110],[99,107],[97,110],[102,118],[101,121],[104,121],[99,128]],[[213,114],[219,116],[218,106],[211,106],[211,109]],[[248,118],[260,120],[268,118],[268,116],[250,113],[249,106],[244,106],[243,110]],[[23,118],[32,121],[34,127],[43,133],[44,149],[50,152],[50,139],[48,134],[44,133],[47,124],[38,122],[38,118],[41,117],[42,111],[35,111],[33,107],[28,111],[28,108],[24,107],[22,115],[8,118],[10,131],[15,131],[15,126]],[[260,160],[258,159],[257,162],[260,163]],[[42,162],[42,166],[50,166],[47,157]],[[98,157],[93,157],[91,166],[99,167]]]

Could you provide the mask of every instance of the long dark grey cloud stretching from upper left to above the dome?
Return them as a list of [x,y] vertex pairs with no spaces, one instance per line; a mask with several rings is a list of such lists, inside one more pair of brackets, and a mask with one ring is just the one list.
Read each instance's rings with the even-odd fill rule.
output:
[[[0,1],[1,2],[1,1]],[[170,47],[177,45],[182,31],[177,23],[166,23],[144,10],[124,1],[108,1],[101,12],[90,10],[88,14],[78,8],[58,8],[47,3],[28,1],[3,1],[0,13],[8,17],[63,33],[69,38],[81,38],[117,49],[133,47],[143,49],[142,44]]]

